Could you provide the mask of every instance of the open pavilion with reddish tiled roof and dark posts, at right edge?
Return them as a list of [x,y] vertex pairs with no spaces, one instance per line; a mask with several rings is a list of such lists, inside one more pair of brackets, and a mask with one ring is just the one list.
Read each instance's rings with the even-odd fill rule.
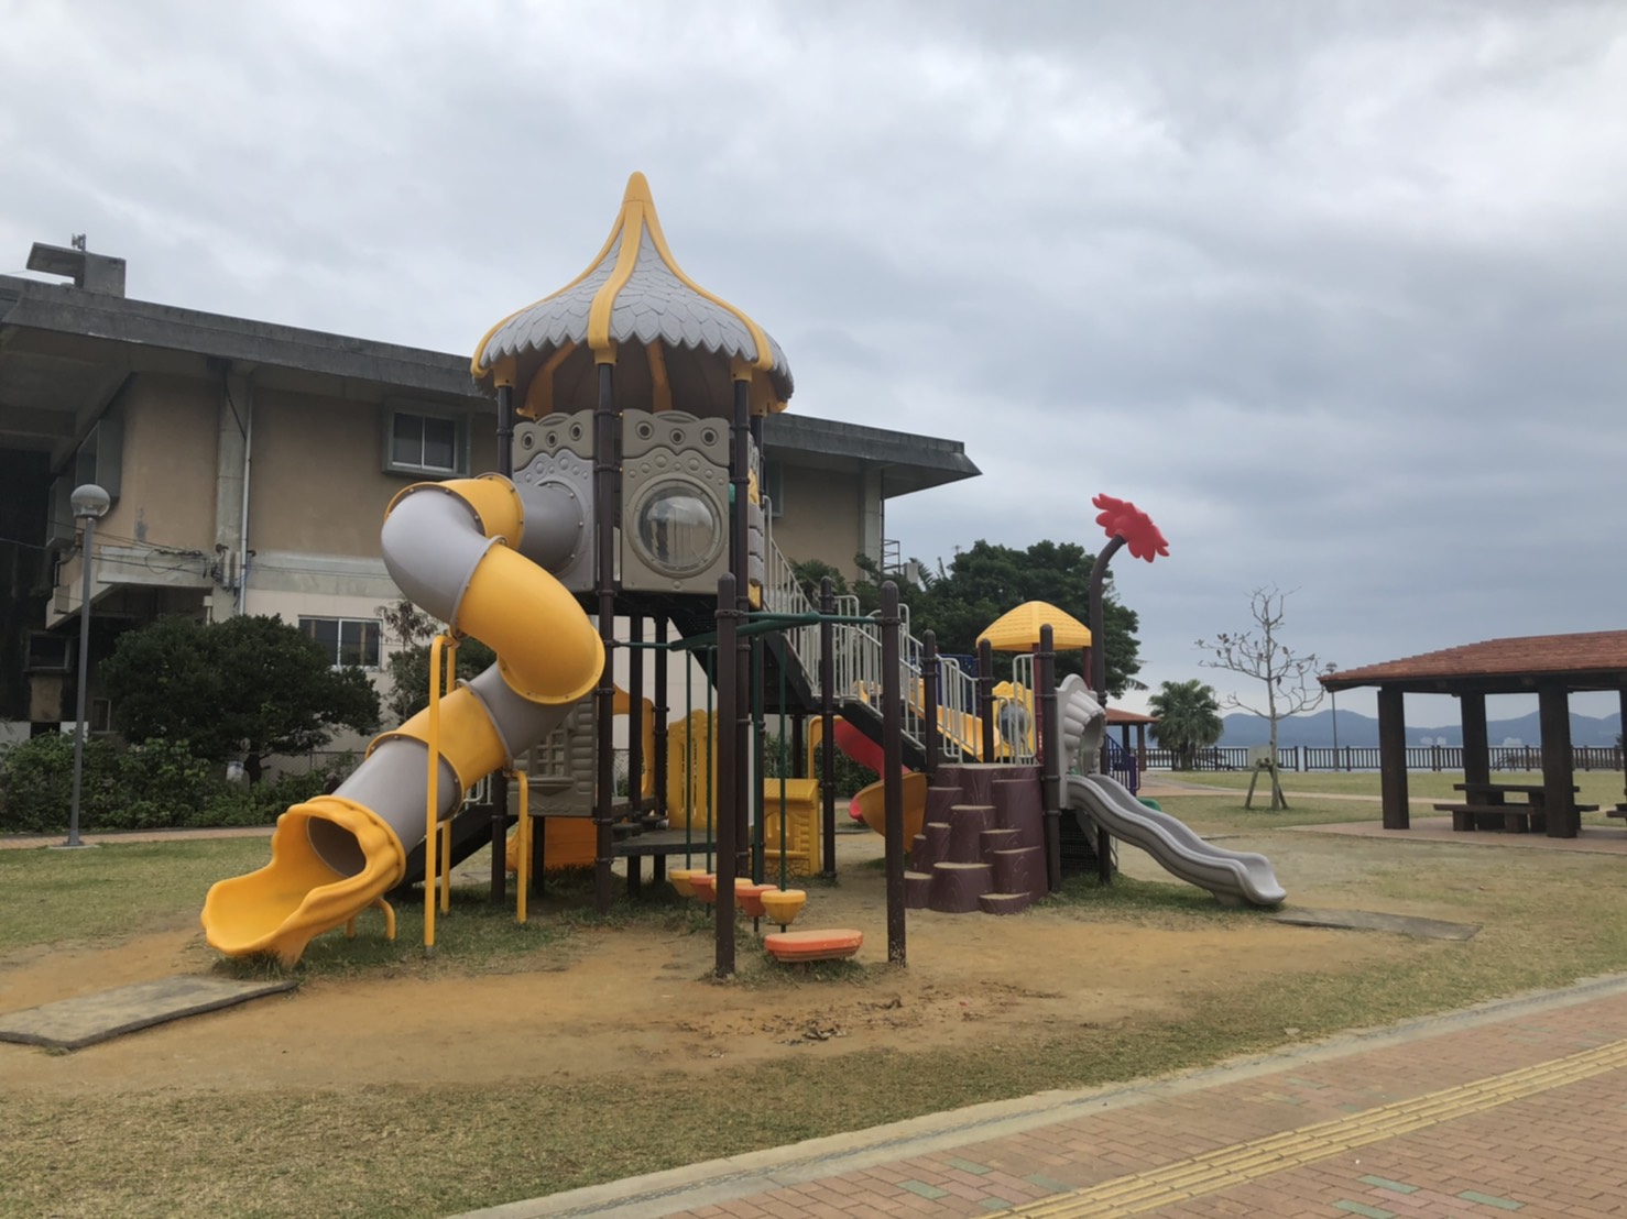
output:
[[[1526,788],[1542,808],[1546,832],[1573,839],[1581,827],[1570,753],[1570,696],[1616,691],[1627,720],[1627,631],[1577,636],[1528,636],[1425,652],[1321,678],[1328,691],[1378,688],[1378,764],[1385,829],[1407,829],[1407,694],[1451,694],[1463,715],[1463,787],[1472,801],[1490,782],[1485,740],[1487,694],[1536,694],[1542,733],[1542,783]],[[1505,788],[1515,790],[1515,788]],[[1472,816],[1472,814],[1471,814]]]

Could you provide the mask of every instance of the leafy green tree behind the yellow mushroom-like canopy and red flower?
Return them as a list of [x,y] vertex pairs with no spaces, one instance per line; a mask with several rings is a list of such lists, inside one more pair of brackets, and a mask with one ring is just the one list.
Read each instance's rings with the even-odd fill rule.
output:
[[[958,551],[947,567],[939,564],[926,588],[905,587],[900,595],[909,603],[909,629],[916,636],[934,631],[942,652],[976,652],[978,636],[1023,601],[1049,601],[1080,623],[1090,621],[1093,562],[1093,554],[1071,541],[1036,541],[1025,551],[976,541],[970,549]],[[1141,671],[1141,640],[1136,639],[1141,619],[1113,598],[1111,574],[1103,611],[1108,692],[1123,697],[1124,691],[1144,689],[1136,681]],[[1002,670],[1010,663],[1009,658],[996,660]],[[1056,671],[1059,678],[1082,675],[1084,655],[1059,652]]]

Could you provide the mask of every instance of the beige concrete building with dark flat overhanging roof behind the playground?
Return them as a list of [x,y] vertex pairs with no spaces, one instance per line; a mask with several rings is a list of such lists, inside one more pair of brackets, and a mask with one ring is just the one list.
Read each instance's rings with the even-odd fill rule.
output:
[[[400,596],[379,522],[408,483],[496,468],[465,356],[124,294],[124,260],[36,244],[0,276],[0,740],[73,718],[72,489],[112,496],[91,556],[94,662],[161,614],[280,614],[377,668]],[[765,432],[773,531],[854,572],[887,501],[978,473],[958,440],[786,413]],[[93,697],[93,728],[111,709]]]

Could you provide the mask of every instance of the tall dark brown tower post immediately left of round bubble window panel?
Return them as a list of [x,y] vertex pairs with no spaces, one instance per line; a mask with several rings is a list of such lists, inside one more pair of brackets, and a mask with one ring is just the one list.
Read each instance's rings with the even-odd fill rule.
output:
[[594,691],[594,751],[597,761],[594,793],[594,905],[608,913],[615,894],[610,863],[615,858],[615,366],[599,366],[599,401],[594,406],[594,528],[599,531],[594,585],[599,593],[599,639],[605,645],[605,668]]

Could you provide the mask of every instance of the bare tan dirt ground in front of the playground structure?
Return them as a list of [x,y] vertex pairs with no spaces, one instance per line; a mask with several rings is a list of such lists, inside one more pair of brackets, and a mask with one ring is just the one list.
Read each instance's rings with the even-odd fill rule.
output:
[[[810,892],[802,925],[859,928],[859,961],[885,962],[882,873],[862,866],[880,855],[880,839],[844,834],[840,842],[841,884]],[[1360,878],[1376,848],[1280,832],[1227,845],[1271,853],[1295,904],[1334,907],[1362,907]],[[1126,850],[1123,866],[1163,876],[1139,852]],[[1349,965],[1383,961],[1406,941],[1243,912],[1196,928],[1186,920],[1181,930],[1155,918],[1111,922],[1077,905],[1015,918],[911,912],[906,970],[789,987],[709,982],[706,935],[591,928],[568,943],[542,972],[524,962],[477,975],[317,977],[286,996],[72,1055],[0,1045],[0,1076],[10,1089],[59,1095],[236,1092],[480,1084],[513,1081],[516,1073],[568,1081],[633,1065],[714,1073],[784,1055],[918,1050],[970,1039],[1020,1047],[1054,1037],[1058,1026],[1173,1014],[1181,995],[1253,975],[1324,969],[1331,957]],[[111,948],[39,949],[5,961],[0,1008],[205,972],[212,962],[195,925]]]

